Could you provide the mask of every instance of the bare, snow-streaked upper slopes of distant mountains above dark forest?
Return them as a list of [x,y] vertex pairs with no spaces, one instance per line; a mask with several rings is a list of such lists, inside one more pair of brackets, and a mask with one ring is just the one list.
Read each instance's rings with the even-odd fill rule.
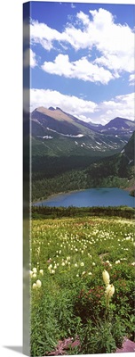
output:
[[115,118],[105,126],[86,123],[59,107],[38,107],[31,113],[31,120],[34,145],[37,144],[38,151],[47,149],[54,156],[114,154],[123,148],[135,129],[134,122],[123,118]]

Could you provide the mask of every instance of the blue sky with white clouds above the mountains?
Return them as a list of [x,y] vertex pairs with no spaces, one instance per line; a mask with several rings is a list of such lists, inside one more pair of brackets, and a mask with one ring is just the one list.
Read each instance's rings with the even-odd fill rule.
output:
[[134,120],[134,19],[134,4],[31,2],[30,112],[53,106],[94,123]]

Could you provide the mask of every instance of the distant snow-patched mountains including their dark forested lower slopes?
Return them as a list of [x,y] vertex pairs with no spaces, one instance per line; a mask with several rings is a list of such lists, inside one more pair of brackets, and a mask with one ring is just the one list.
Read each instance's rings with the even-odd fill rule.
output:
[[31,113],[33,181],[67,175],[71,170],[74,173],[75,170],[85,170],[102,158],[122,152],[135,124],[119,118],[114,122],[111,120],[106,126],[95,126],[63,112],[59,107],[36,108]]

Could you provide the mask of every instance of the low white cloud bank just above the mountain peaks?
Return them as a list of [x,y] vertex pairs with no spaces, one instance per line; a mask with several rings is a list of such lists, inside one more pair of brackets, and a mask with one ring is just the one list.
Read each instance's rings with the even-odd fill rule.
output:
[[81,120],[91,120],[101,124],[106,124],[117,116],[134,120],[134,93],[118,95],[110,101],[96,104],[75,95],[62,95],[55,90],[31,89],[30,111],[39,106],[46,108],[58,106],[64,112],[69,112]]

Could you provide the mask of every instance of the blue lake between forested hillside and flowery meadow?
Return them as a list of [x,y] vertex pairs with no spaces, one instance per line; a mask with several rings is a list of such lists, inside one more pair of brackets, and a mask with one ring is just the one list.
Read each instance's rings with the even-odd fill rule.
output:
[[135,199],[121,188],[89,188],[52,197],[35,203],[36,206],[93,207],[93,206],[135,206]]

